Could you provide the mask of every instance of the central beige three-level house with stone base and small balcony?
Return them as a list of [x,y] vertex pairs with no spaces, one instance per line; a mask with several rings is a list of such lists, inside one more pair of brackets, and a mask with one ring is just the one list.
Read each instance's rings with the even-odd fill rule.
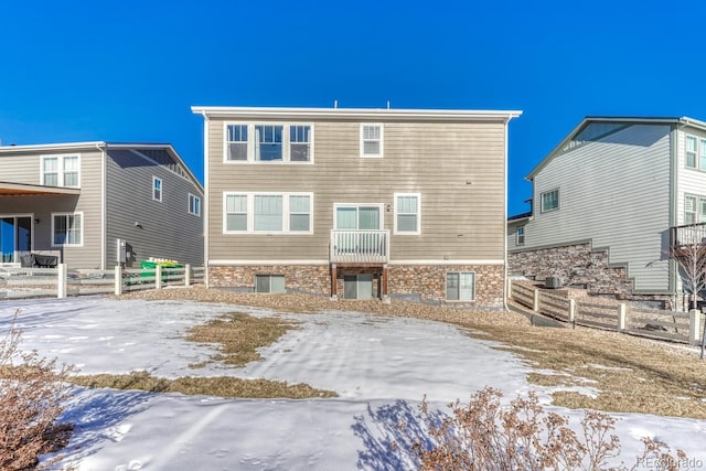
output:
[[502,306],[520,111],[192,110],[208,286]]

